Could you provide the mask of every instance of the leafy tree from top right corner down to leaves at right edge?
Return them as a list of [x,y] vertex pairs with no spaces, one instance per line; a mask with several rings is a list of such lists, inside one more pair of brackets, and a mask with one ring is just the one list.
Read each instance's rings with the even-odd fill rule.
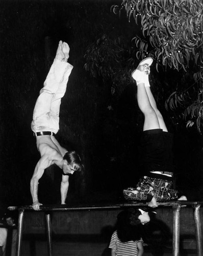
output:
[[[197,0],[123,0],[112,6],[115,14],[124,10],[140,26],[132,40],[136,57],[151,56],[157,71],[184,70],[182,84],[166,101],[166,108],[178,110],[187,126],[195,122],[202,132],[203,90],[203,3]],[[193,79],[192,79],[193,77]]]

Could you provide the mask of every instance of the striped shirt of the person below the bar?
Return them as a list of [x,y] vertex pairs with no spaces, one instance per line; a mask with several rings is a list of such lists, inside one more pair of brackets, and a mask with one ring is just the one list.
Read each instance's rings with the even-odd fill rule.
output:
[[142,238],[137,241],[128,241],[122,243],[120,239],[118,238],[117,230],[114,231],[111,237],[111,242],[109,245],[109,248],[116,250],[116,256],[137,256],[138,254],[138,248],[137,243],[142,242]]

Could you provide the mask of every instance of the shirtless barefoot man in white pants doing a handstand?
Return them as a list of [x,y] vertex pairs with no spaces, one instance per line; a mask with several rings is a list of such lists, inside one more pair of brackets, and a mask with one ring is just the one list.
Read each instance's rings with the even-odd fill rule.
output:
[[31,128],[41,156],[30,183],[34,210],[40,209],[38,183],[47,167],[56,164],[62,169],[61,204],[65,204],[69,176],[80,171],[83,166],[78,153],[62,147],[55,137],[59,131],[61,99],[66,92],[68,78],[73,68],[67,62],[69,50],[66,42],[59,42],[56,57],[40,90],[33,112]]

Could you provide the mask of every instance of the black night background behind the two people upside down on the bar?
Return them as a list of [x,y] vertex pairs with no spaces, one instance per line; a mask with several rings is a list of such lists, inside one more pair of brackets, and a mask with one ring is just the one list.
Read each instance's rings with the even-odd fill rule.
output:
[[[142,116],[133,83],[112,96],[109,83],[84,69],[85,52],[102,34],[122,36],[131,43],[133,22],[110,11],[121,1],[0,1],[0,203],[30,205],[30,179],[39,153],[30,128],[40,88],[55,57],[58,41],[70,46],[73,70],[60,112],[57,139],[81,155],[85,171],[70,178],[67,202],[120,200],[122,189],[137,183],[138,143]],[[189,200],[202,199],[202,138],[195,127],[164,109],[164,101],[181,73],[160,73],[168,81],[155,89],[158,105],[174,133],[176,188]],[[173,74],[173,73],[172,73]],[[158,79],[158,78],[157,78]],[[171,82],[171,84],[170,84]],[[108,106],[113,106],[109,110]],[[39,183],[39,201],[60,202],[61,170],[45,170]]]

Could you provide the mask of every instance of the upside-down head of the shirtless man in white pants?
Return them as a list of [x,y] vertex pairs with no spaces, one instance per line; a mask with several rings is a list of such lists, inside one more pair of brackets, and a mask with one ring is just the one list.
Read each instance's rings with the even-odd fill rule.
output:
[[74,172],[80,172],[82,168],[83,164],[77,152],[68,151],[63,156],[63,175],[70,175]]

